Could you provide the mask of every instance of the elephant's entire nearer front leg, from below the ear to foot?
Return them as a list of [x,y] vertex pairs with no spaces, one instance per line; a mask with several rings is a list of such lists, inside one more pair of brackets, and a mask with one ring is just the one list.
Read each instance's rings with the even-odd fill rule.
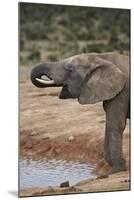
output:
[[123,158],[122,136],[126,126],[127,110],[125,105],[113,102],[105,103],[106,129],[104,140],[104,155],[112,166],[112,173],[126,170]]

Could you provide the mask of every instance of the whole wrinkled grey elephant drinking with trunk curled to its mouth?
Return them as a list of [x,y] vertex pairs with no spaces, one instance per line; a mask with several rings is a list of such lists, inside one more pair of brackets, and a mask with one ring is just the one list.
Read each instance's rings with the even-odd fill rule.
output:
[[[42,83],[43,75],[49,80]],[[39,88],[62,86],[61,99],[77,98],[80,104],[103,101],[106,113],[105,160],[112,166],[112,173],[126,170],[122,133],[129,118],[128,56],[88,53],[59,62],[42,63],[33,68],[31,81]]]

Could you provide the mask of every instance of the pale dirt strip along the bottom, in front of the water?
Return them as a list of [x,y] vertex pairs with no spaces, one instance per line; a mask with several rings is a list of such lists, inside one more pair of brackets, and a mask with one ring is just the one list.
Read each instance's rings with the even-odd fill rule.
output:
[[20,190],[20,196],[75,194],[87,192],[108,192],[130,190],[129,172],[120,172],[106,177],[87,179],[71,187],[30,188]]

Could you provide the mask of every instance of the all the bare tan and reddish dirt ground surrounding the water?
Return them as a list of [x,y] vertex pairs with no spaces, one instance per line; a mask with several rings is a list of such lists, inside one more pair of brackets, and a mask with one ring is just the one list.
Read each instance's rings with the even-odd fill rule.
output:
[[80,105],[74,99],[60,100],[61,88],[36,88],[30,82],[30,71],[20,68],[20,156],[95,163],[98,178],[68,188],[23,189],[20,196],[129,190],[129,121],[123,135],[127,171],[102,176],[110,172],[103,158],[102,103]]

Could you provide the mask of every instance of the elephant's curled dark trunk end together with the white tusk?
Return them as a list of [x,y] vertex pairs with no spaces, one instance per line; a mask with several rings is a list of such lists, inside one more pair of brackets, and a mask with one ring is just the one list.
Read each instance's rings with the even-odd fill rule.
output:
[[[44,87],[52,87],[55,86],[54,80],[52,80],[49,76],[50,66],[49,64],[40,64],[33,68],[31,72],[31,81],[32,83],[39,88]],[[42,79],[42,76],[46,75],[47,80]],[[49,80],[48,80],[49,78]]]

